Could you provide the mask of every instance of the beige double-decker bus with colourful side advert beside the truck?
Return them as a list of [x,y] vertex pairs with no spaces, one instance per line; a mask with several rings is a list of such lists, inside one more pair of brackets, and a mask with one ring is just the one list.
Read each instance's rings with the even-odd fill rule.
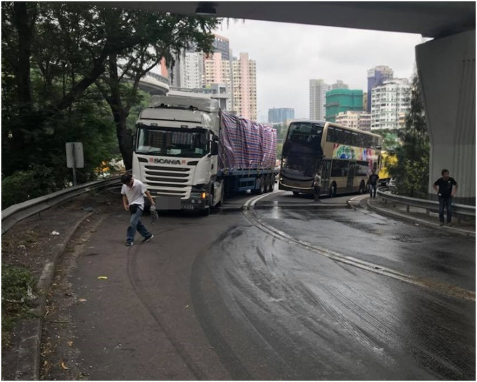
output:
[[283,142],[278,189],[313,193],[321,172],[321,194],[365,193],[374,168],[381,166],[382,137],[323,121],[293,121]]

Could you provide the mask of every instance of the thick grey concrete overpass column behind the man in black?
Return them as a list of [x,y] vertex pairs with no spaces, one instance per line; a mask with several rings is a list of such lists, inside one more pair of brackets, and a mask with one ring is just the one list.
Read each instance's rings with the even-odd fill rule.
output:
[[476,203],[476,31],[416,46],[430,139],[429,196],[447,168],[457,180],[456,203]]

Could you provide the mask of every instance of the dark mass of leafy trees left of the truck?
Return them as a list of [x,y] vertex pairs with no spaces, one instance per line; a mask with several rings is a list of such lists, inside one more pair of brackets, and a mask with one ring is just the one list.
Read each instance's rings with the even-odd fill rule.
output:
[[113,4],[4,1],[1,7],[2,188],[25,194],[25,179],[32,182],[35,172],[47,177],[49,186],[26,192],[29,197],[69,184],[66,142],[83,143],[79,182],[93,179],[104,161],[121,155],[129,161],[128,116],[147,98],[140,77],[162,59],[173,63],[174,53],[192,43],[210,51],[219,23]]

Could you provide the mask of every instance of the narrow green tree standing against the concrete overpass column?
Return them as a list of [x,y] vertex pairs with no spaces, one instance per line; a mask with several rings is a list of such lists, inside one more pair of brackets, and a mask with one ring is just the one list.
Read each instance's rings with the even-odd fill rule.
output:
[[429,135],[427,133],[424,104],[417,74],[412,79],[410,111],[405,127],[398,131],[402,142],[396,148],[397,163],[389,173],[396,180],[398,193],[417,198],[427,197],[429,181]]

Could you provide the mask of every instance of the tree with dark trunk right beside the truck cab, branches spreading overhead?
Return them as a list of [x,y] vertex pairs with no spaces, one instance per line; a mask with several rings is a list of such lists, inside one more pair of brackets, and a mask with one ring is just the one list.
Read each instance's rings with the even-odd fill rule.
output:
[[150,13],[126,9],[104,9],[106,39],[114,39],[121,29],[141,31],[142,41],[122,53],[111,53],[108,70],[95,81],[111,108],[119,149],[126,169],[132,167],[132,148],[127,144],[127,118],[131,107],[140,102],[139,82],[148,71],[166,60],[172,67],[174,56],[195,46],[210,53],[215,39],[212,31],[220,23],[214,18]]

